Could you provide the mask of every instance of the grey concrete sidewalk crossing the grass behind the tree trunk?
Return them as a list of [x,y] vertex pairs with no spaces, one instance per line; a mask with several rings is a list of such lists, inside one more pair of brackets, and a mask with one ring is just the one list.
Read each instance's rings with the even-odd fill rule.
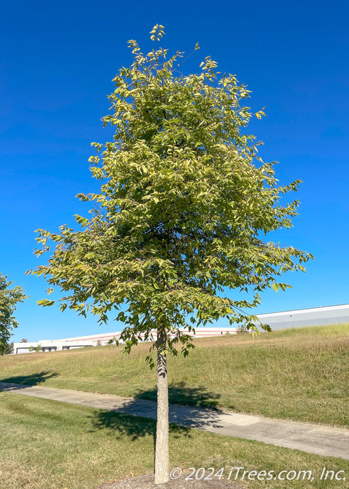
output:
[[[41,386],[0,382],[0,391],[41,397],[156,419],[156,402]],[[285,448],[349,460],[349,430],[261,416],[221,413],[196,407],[170,406],[170,422],[219,435],[262,441]]]

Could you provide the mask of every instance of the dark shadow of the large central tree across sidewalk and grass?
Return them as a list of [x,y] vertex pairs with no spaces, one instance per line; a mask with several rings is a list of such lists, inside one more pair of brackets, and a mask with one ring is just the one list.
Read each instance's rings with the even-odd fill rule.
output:
[[[170,436],[191,437],[191,428],[221,428],[221,413],[216,408],[220,396],[203,387],[186,387],[184,382],[169,386]],[[133,441],[151,435],[156,438],[156,389],[139,391],[134,399],[127,400],[111,411],[96,411],[91,416],[92,431],[110,430],[117,439],[125,435]],[[176,402],[184,405],[171,405]],[[203,407],[205,406],[205,409]],[[217,408],[216,408],[217,409]]]

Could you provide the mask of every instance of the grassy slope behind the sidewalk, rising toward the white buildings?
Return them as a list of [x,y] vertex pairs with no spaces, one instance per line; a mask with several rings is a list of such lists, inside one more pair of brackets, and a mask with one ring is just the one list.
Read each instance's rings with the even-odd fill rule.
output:
[[[349,324],[195,340],[169,358],[170,402],[348,425]],[[0,380],[156,400],[156,372],[117,346],[0,358]]]

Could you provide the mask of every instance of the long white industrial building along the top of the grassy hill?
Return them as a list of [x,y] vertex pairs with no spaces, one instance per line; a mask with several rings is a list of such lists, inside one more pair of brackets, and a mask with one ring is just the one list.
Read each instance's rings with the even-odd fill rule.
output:
[[[272,330],[349,323],[349,304],[258,314],[258,319],[260,323],[269,324]],[[219,326],[216,328],[196,328],[195,337],[220,336],[227,333],[235,334],[236,332],[237,328],[221,328]],[[184,330],[184,333],[189,332],[188,330]],[[39,345],[41,351],[59,351],[82,348],[83,346],[104,345],[112,340],[113,337],[119,339],[120,334],[121,331],[116,331],[115,333],[107,333],[105,335],[79,336],[64,338],[63,340],[14,343],[13,353],[30,353],[31,351],[36,351]],[[140,336],[144,338],[144,334]],[[156,330],[154,330],[155,337]]]

